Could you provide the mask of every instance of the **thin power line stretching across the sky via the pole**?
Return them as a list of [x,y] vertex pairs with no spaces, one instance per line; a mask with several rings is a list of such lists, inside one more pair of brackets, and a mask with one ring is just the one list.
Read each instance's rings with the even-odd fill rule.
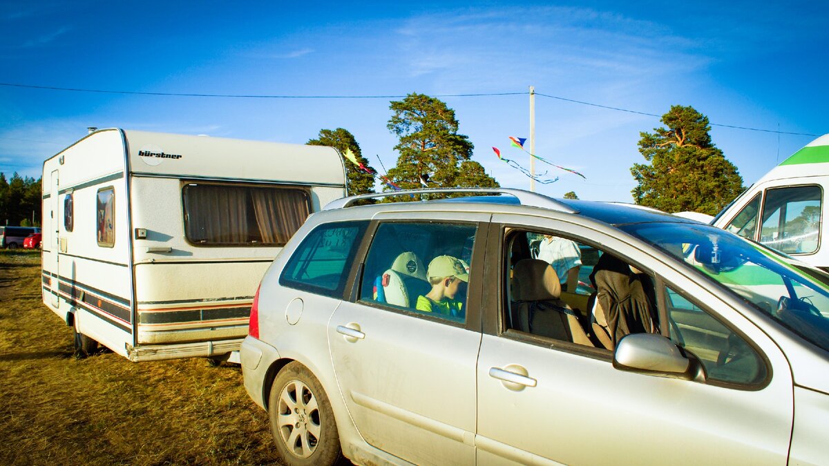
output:
[[[405,99],[408,95],[245,95],[245,94],[188,94],[178,92],[139,92],[133,90],[100,90],[100,89],[79,89],[71,87],[54,87],[46,85],[22,85],[13,83],[0,83],[7,87],[22,87],[27,89],[43,89],[43,90],[67,90],[72,92],[94,92],[98,94],[121,94],[121,95],[159,95],[167,97],[220,97],[230,99]],[[529,92],[492,92],[480,94],[442,94],[432,95],[432,97],[490,97],[497,95],[528,95]],[[647,112],[640,112],[638,110],[623,109],[620,107],[611,107],[609,105],[594,104],[592,102],[585,102],[584,100],[567,99],[557,95],[541,94],[536,92],[536,95],[547,97],[549,99],[563,100],[573,104],[589,105],[591,107],[598,107],[599,109],[616,110],[618,112],[626,112],[628,114],[640,114],[655,118],[662,118],[662,115],[649,114]],[[795,136],[812,136],[817,137],[819,134],[813,133],[792,133],[788,131],[780,131],[773,129],[759,129],[749,128],[746,126],[736,126],[733,124],[719,124],[709,123],[711,126],[720,126],[722,128],[744,129],[746,131],[759,131],[762,133],[776,133],[776,134],[792,134]]]

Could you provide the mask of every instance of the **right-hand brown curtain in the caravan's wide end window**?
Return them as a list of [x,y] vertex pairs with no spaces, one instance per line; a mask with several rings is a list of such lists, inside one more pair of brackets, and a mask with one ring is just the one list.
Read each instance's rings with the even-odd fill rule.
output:
[[298,189],[252,189],[262,242],[284,245],[308,218],[308,195]]

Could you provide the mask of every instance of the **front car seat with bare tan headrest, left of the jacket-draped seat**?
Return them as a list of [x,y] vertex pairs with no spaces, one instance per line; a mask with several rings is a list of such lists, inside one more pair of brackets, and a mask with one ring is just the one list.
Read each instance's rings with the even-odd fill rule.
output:
[[555,270],[538,259],[516,263],[512,277],[512,322],[521,332],[594,346],[579,318],[560,299],[561,284]]

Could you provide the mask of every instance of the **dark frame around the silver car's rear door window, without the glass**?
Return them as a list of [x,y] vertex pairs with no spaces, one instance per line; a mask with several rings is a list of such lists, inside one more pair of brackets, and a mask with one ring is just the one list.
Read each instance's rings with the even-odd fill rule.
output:
[[[387,303],[377,303],[375,301],[364,301],[361,299],[361,286],[363,282],[363,275],[365,274],[365,266],[366,260],[368,259],[368,253],[371,250],[371,244],[374,242],[375,236],[377,231],[379,230],[382,224],[389,224],[389,223],[415,223],[415,224],[423,224],[423,223],[442,223],[446,225],[465,225],[465,226],[475,226],[475,246],[473,247],[473,255],[472,255],[472,264],[470,264],[469,269],[469,283],[467,285],[467,309],[466,309],[466,322],[455,322],[453,320],[449,320],[446,318],[437,317],[434,315],[429,315],[429,313],[422,313],[422,312],[414,312],[407,308],[400,308],[394,305],[390,305]],[[392,313],[399,313],[406,316],[411,316],[414,318],[423,318],[432,322],[436,323],[443,323],[446,325],[450,325],[456,328],[465,328],[467,330],[471,330],[474,332],[481,332],[482,329],[482,280],[483,277],[483,269],[484,269],[484,260],[486,260],[486,245],[487,245],[487,238],[488,238],[488,229],[487,226],[489,222],[485,221],[464,221],[464,220],[448,220],[444,218],[434,218],[434,219],[426,219],[426,218],[413,218],[413,219],[398,219],[398,218],[388,218],[388,219],[374,219],[371,221],[371,224],[366,230],[366,234],[364,235],[363,242],[359,250],[357,250],[356,257],[359,260],[355,259],[355,268],[352,270],[353,275],[350,277],[351,281],[351,291],[347,296],[347,301],[351,303],[356,303],[361,306],[367,306],[370,308],[376,308],[381,311],[385,312],[392,312]],[[478,309],[478,311],[473,311],[473,309]]]

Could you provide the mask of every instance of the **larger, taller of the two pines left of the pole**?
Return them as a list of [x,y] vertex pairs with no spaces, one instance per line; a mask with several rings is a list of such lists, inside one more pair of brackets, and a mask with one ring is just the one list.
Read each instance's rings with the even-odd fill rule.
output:
[[[455,112],[441,100],[410,94],[392,101],[387,128],[400,140],[397,165],[388,176],[404,189],[421,187],[421,175],[429,175],[429,187],[498,187],[480,163],[471,160],[473,143],[458,134]],[[385,187],[388,190],[388,187]]]

